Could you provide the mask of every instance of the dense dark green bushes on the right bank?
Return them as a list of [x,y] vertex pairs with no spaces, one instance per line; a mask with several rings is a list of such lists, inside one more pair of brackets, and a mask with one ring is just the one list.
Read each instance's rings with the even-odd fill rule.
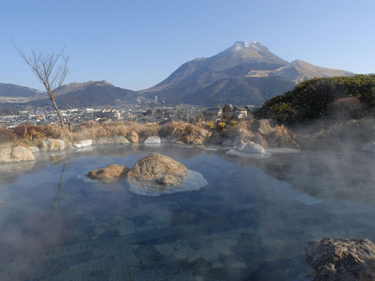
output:
[[292,124],[332,115],[334,110],[360,117],[374,107],[375,74],[357,74],[303,81],[292,91],[267,100],[256,117]]

